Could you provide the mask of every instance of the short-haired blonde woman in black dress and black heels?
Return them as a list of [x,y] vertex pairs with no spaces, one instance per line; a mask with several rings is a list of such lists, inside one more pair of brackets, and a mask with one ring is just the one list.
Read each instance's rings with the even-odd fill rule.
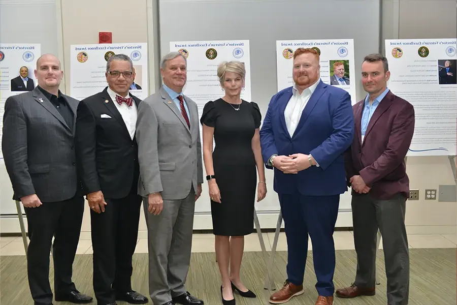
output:
[[240,98],[245,74],[240,62],[219,65],[217,76],[225,96],[208,102],[200,120],[222,302],[231,305],[235,304],[233,290],[255,297],[240,280],[240,266],[244,235],[254,230],[257,173],[257,202],[267,194],[258,133],[262,115],[257,104]]

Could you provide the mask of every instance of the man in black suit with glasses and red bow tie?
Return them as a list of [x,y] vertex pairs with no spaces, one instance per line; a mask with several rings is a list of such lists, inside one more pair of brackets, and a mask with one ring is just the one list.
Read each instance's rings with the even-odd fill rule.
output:
[[77,112],[78,173],[91,209],[93,290],[100,305],[148,302],[130,282],[142,201],[135,139],[140,100],[128,93],[134,77],[128,56],[111,56],[108,87],[82,100]]

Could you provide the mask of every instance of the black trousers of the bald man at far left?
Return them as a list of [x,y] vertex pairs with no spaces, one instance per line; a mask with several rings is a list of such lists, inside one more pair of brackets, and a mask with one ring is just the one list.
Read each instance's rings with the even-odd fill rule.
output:
[[49,257],[53,236],[54,292],[64,295],[76,289],[72,272],[83,212],[83,197],[43,202],[39,207],[25,208],[30,239],[27,250],[28,284],[36,305],[52,302]]

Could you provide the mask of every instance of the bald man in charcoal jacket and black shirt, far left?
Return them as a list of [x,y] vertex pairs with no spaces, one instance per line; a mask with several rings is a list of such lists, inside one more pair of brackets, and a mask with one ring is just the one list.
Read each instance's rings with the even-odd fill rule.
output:
[[3,155],[14,200],[27,215],[27,273],[35,305],[52,304],[49,253],[54,236],[56,301],[89,303],[72,282],[84,198],[77,181],[74,131],[79,101],[61,94],[63,72],[54,55],[37,60],[38,86],[9,97],[3,117]]

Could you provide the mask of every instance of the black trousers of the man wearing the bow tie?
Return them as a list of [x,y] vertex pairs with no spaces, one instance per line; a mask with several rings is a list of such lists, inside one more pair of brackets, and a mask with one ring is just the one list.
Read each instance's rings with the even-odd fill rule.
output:
[[116,293],[132,290],[132,256],[137,246],[142,198],[129,195],[105,201],[105,212],[90,211],[93,291],[100,305],[114,303]]

